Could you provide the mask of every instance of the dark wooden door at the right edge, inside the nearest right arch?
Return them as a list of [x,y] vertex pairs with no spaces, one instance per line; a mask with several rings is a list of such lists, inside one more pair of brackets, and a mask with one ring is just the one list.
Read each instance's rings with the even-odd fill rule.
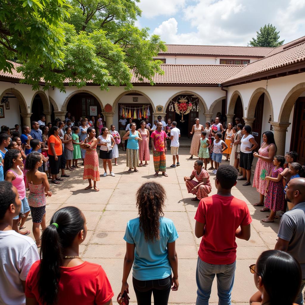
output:
[[296,100],[290,149],[298,153],[298,162],[305,165],[305,98]]

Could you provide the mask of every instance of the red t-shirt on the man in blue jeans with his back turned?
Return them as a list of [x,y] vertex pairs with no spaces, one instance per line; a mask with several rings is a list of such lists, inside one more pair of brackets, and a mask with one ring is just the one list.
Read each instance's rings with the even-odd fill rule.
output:
[[208,264],[228,265],[236,260],[235,231],[252,222],[247,204],[234,196],[213,195],[200,200],[195,219],[205,223],[198,255]]

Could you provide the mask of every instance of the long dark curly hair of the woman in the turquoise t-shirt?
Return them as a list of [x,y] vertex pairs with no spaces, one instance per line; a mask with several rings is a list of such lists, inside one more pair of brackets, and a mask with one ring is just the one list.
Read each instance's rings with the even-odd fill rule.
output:
[[166,193],[162,185],[146,182],[137,191],[140,231],[144,232],[145,241],[160,239],[160,217],[164,216],[163,207]]

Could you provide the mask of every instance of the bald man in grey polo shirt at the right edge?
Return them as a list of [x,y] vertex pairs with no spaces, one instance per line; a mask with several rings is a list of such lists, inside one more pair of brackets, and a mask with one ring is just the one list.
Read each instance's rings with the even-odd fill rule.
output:
[[295,302],[303,305],[302,291],[305,286],[305,178],[294,178],[285,188],[285,199],[289,211],[281,219],[278,229],[278,242],[275,250],[282,250],[291,254],[302,269],[302,283],[300,293]]

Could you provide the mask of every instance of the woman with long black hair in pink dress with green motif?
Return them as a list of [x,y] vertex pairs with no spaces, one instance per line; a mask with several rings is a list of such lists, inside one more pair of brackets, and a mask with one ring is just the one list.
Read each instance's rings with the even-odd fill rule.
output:
[[[257,152],[253,153],[253,156],[258,158],[255,167],[255,173],[253,178],[253,187],[260,193],[260,201],[254,203],[254,206],[264,206],[264,194],[266,189],[266,176],[270,173],[273,167],[273,158],[276,153],[276,145],[274,141],[274,135],[271,131],[263,133],[263,143]],[[262,208],[261,212],[269,211],[267,208]]]

